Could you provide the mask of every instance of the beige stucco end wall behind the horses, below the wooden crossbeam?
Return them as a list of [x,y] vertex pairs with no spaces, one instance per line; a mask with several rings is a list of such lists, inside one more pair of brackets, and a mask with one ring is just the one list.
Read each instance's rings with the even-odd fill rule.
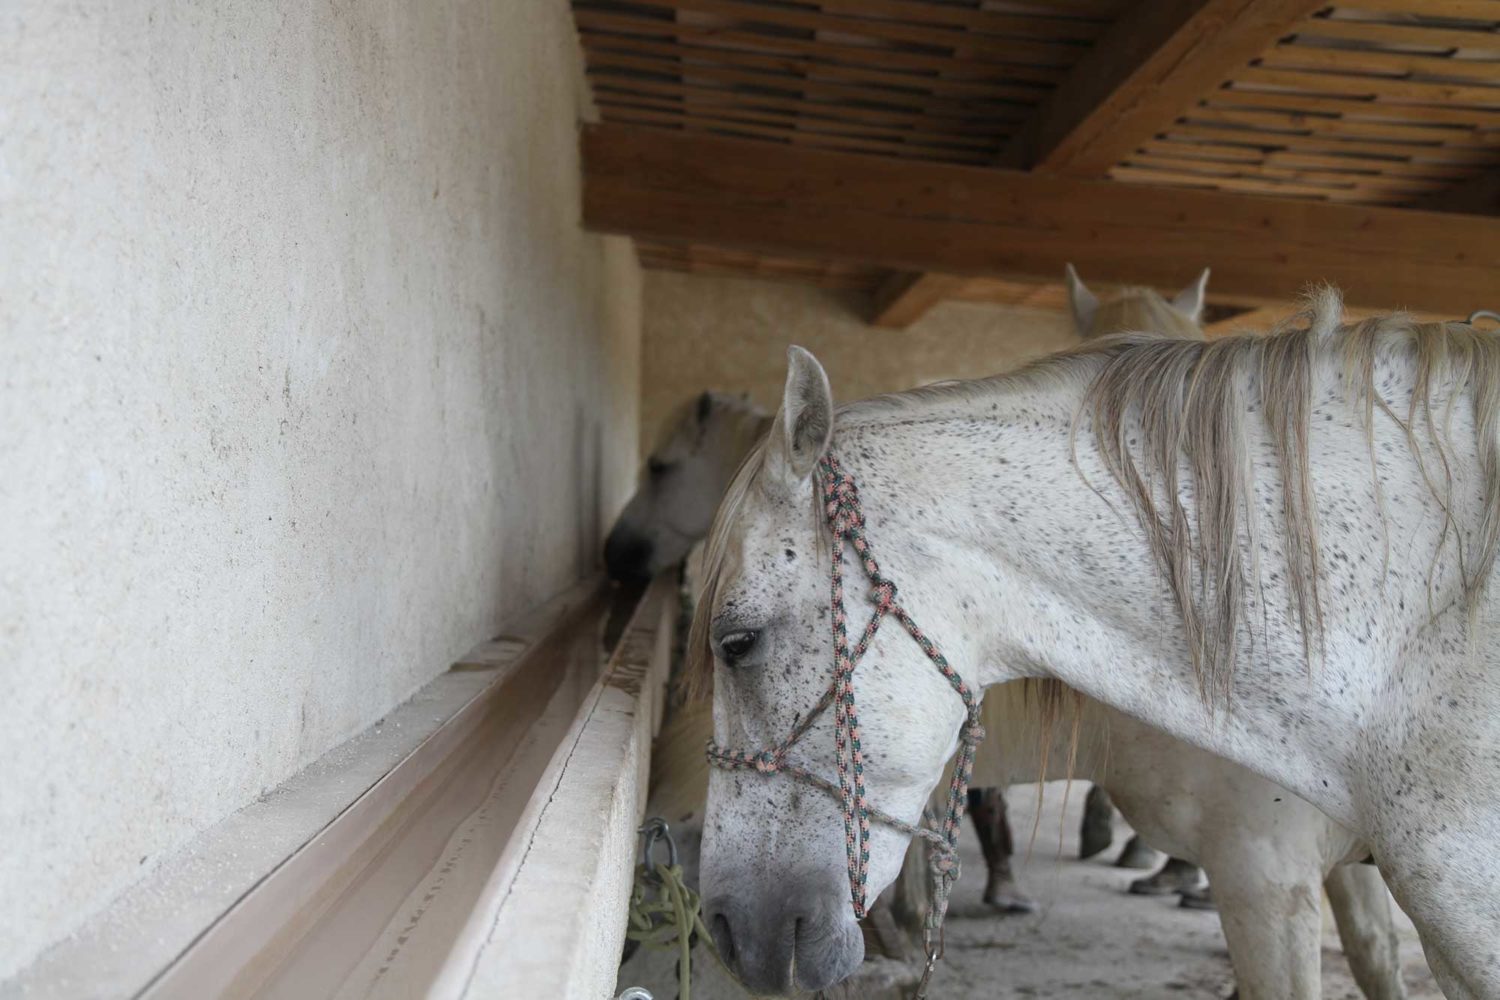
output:
[[648,271],[640,367],[640,435],[705,388],[782,400],[786,346],[824,363],[834,399],[849,402],[946,378],[980,378],[1077,343],[1059,313],[944,303],[908,330],[866,325],[854,292],[740,277]]

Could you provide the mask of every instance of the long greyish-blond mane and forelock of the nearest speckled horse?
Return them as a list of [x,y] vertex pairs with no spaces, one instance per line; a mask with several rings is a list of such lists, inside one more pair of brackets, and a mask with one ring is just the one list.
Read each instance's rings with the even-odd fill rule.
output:
[[[1404,433],[1412,456],[1443,511],[1438,552],[1452,544],[1462,601],[1473,618],[1500,549],[1500,337],[1460,322],[1419,324],[1404,313],[1340,325],[1332,289],[1264,336],[1212,342],[1124,334],[1062,351],[980,381],[945,382],[842,406],[836,433],[850,426],[975,417],[976,402],[1071,385],[1074,456],[1088,430],[1110,475],[1125,492],[1156,568],[1176,606],[1204,700],[1227,700],[1236,639],[1260,592],[1257,519],[1246,441],[1260,412],[1281,478],[1280,529],[1287,558],[1292,613],[1311,667],[1323,642],[1323,601],[1308,424],[1318,376],[1342,373],[1346,400],[1362,420],[1371,480],[1382,504],[1374,447],[1376,412]],[[1406,361],[1410,402],[1400,414],[1376,384],[1376,363]],[[1336,370],[1335,370],[1336,375]],[[1454,516],[1454,406],[1472,394],[1484,490],[1474,544],[1466,550]],[[1082,393],[1082,397],[1080,394]],[[1440,396],[1446,394],[1446,402]],[[759,445],[735,475],[708,541],[705,583],[690,640],[690,675],[706,687],[712,669],[706,618],[724,570],[730,528],[764,465]],[[1182,472],[1186,472],[1184,480]],[[1192,510],[1184,501],[1196,498]],[[1430,573],[1430,579],[1431,579]]]

